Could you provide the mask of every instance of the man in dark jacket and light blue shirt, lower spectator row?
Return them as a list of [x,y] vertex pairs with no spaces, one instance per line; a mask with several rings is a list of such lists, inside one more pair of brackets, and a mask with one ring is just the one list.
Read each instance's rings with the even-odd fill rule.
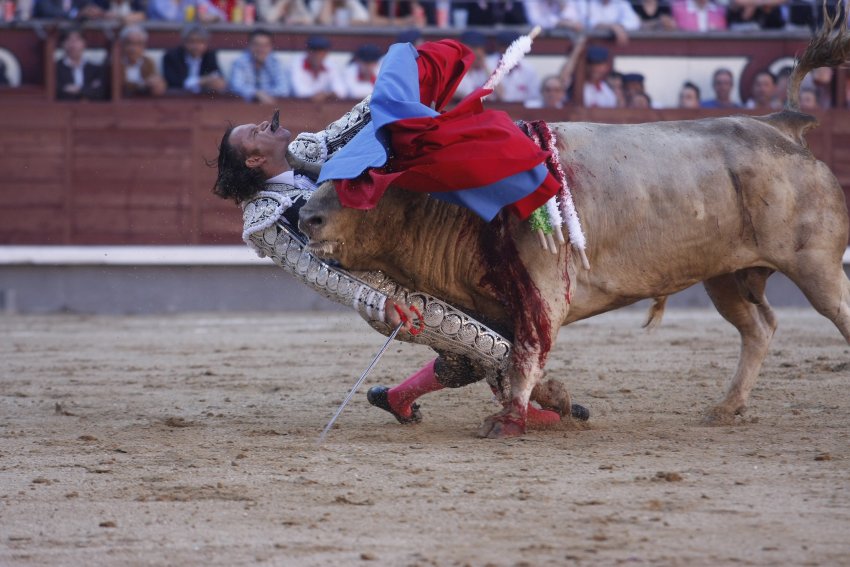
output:
[[209,49],[209,32],[201,25],[190,24],[183,28],[181,37],[183,45],[169,49],[162,58],[168,88],[194,94],[226,92],[218,58]]

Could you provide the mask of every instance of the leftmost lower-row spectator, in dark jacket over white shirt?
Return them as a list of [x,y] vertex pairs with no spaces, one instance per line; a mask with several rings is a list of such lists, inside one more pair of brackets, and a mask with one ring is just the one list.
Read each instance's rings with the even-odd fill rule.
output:
[[106,100],[109,81],[102,65],[86,61],[86,40],[79,29],[66,30],[61,40],[63,57],[56,63],[57,100]]

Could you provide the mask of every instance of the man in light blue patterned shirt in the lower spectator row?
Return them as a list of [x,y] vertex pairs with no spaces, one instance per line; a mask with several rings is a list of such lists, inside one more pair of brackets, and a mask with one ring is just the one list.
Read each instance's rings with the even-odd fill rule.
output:
[[248,35],[248,49],[230,69],[230,90],[245,100],[263,104],[289,96],[286,73],[272,50],[271,34],[263,29],[253,30]]

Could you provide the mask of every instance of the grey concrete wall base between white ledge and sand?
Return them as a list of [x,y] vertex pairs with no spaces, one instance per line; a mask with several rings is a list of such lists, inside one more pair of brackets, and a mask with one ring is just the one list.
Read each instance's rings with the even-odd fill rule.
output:
[[[850,266],[845,266],[850,274]],[[781,274],[768,280],[772,305],[806,306]],[[701,285],[670,298],[669,308],[710,307]],[[637,305],[645,308],[646,302]],[[191,311],[346,309],[264,266],[0,266],[0,310],[18,313],[148,314]]]

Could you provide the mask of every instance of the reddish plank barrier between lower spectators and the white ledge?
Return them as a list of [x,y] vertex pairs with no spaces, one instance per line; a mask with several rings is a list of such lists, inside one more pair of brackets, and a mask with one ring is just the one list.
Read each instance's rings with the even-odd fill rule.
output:
[[[528,110],[514,118],[627,123],[720,115],[688,110]],[[281,104],[294,134],[316,131],[347,102]],[[0,244],[234,244],[241,211],[214,197],[205,159],[228,121],[268,118],[272,108],[234,101],[121,104],[0,100]],[[850,197],[850,111],[820,116],[808,135]]]

